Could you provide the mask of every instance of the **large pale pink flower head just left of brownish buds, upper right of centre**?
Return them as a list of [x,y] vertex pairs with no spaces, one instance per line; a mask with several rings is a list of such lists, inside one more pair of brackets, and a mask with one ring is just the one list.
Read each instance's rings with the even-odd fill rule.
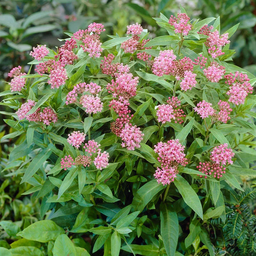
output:
[[176,60],[176,55],[173,54],[173,50],[160,51],[152,66],[153,74],[157,76],[171,74],[174,60]]

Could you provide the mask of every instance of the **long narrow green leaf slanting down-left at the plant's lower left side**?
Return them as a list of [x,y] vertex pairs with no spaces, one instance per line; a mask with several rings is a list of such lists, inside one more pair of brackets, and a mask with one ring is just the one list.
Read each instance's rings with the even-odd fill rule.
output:
[[27,182],[38,171],[38,169],[44,164],[51,154],[52,151],[49,148],[45,148],[38,155],[36,155],[36,157],[28,165],[20,184]]

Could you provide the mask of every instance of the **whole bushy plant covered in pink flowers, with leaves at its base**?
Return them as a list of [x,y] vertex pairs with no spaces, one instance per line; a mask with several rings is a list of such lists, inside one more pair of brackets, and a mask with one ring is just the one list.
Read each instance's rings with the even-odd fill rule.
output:
[[101,43],[92,23],[10,71],[5,170],[41,203],[40,221],[0,222],[0,252],[218,255],[212,219],[226,223],[230,186],[256,175],[256,78],[230,63],[237,25],[220,34],[220,19],[180,9],[154,18],[168,35],[136,23]]

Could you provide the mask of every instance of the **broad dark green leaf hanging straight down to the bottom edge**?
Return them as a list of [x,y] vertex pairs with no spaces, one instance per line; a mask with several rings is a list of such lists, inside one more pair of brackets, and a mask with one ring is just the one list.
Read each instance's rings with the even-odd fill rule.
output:
[[167,206],[164,203],[160,205],[161,236],[167,255],[174,256],[179,237],[179,220],[177,213],[170,210],[170,205]]

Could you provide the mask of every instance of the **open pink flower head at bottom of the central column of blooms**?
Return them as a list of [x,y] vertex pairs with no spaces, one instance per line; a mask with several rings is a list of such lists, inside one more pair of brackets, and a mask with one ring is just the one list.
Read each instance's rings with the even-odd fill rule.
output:
[[143,139],[144,134],[140,131],[140,127],[136,125],[132,126],[126,123],[124,129],[120,133],[120,137],[123,140],[122,147],[126,147],[128,150],[134,150],[140,148],[140,142]]

